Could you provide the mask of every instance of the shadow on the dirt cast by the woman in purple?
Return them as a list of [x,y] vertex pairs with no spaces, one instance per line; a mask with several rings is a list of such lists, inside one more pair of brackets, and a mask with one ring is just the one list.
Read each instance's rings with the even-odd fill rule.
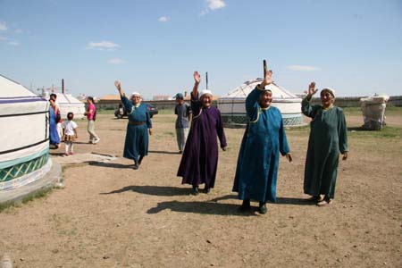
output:
[[170,186],[151,186],[151,185],[130,185],[124,188],[116,189],[108,193],[101,193],[102,195],[120,194],[127,191],[133,191],[143,195],[159,196],[159,197],[175,197],[175,196],[188,196],[190,194],[189,188],[178,188]]

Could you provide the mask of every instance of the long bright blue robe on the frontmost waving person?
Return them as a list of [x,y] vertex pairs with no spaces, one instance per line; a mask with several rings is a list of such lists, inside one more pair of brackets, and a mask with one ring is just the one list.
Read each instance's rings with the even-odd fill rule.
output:
[[290,150],[281,111],[258,105],[263,92],[255,88],[246,99],[249,122],[241,142],[233,191],[242,200],[276,202],[279,156],[287,155]]

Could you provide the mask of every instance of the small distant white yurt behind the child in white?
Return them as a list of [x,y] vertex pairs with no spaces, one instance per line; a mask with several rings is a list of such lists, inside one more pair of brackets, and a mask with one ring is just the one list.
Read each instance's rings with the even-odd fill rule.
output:
[[[76,97],[72,96],[69,93],[61,93],[54,92],[57,95],[56,105],[59,106],[60,115],[63,119],[67,118],[67,113],[74,113],[74,119],[83,119],[85,117],[85,104],[81,102]],[[50,93],[49,91],[45,91],[42,94],[43,97],[49,99]]]

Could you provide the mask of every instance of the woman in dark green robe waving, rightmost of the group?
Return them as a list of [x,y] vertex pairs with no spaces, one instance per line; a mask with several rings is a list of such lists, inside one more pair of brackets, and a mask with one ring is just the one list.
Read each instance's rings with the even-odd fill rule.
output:
[[318,91],[315,83],[308,87],[302,101],[302,112],[312,118],[305,169],[305,194],[317,205],[329,205],[335,195],[339,152],[348,159],[348,128],[343,111],[334,106],[335,92],[331,88],[321,90],[321,104],[310,105],[312,96]]

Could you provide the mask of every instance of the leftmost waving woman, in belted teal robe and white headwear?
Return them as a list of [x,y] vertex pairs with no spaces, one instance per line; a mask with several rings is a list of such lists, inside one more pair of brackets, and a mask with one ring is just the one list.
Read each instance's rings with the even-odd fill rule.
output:
[[134,169],[138,170],[143,158],[148,155],[148,133],[152,135],[151,116],[148,106],[141,103],[138,92],[134,92],[129,99],[122,91],[120,81],[115,81],[114,86],[119,90],[121,103],[129,115],[123,156],[134,160]]

